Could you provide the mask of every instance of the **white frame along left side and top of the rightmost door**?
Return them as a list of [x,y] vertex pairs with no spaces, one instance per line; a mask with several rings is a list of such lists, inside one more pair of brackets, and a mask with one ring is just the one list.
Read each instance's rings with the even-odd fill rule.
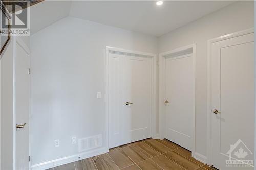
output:
[[208,165],[211,165],[211,114],[212,114],[212,112],[211,112],[211,58],[212,58],[211,44],[218,42],[218,41],[250,34],[253,32],[254,32],[254,29],[250,28],[250,29],[234,32],[231,34],[226,34],[226,35],[208,40],[208,85],[207,85],[207,90],[208,90],[208,99],[207,99],[207,129],[208,129],[207,130],[207,164]]

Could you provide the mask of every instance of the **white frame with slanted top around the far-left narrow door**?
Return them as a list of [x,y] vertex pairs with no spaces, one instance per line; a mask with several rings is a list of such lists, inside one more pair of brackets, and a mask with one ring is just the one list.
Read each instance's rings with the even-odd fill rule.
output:
[[[16,169],[16,45],[20,45],[29,56],[29,68],[31,68],[31,54],[28,46],[17,36],[13,36],[13,169]],[[31,76],[29,76],[29,155],[31,156]],[[29,162],[29,170],[31,169]]]

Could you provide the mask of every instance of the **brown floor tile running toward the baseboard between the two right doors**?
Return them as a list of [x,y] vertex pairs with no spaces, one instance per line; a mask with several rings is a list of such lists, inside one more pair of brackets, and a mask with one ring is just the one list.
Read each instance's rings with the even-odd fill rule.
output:
[[188,170],[195,170],[200,167],[200,165],[196,164],[195,162],[185,158],[184,156],[174,151],[167,152],[164,155]]

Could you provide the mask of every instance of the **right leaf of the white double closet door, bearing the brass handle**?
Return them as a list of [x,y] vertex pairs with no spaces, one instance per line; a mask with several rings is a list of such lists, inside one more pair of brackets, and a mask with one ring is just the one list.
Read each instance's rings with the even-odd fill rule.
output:
[[[150,137],[151,59],[125,56],[122,72],[124,142]],[[133,104],[124,105],[125,102]]]

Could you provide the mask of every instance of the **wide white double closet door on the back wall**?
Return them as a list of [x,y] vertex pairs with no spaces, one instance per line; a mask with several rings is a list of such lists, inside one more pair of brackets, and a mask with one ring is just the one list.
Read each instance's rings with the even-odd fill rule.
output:
[[109,148],[151,137],[152,58],[109,53]]

